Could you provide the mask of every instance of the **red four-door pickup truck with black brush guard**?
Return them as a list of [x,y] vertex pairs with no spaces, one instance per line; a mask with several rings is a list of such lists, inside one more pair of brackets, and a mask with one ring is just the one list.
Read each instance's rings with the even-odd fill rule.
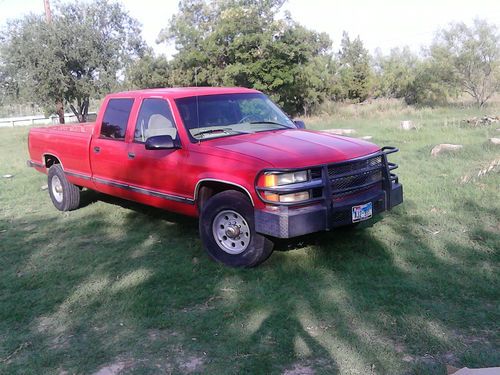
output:
[[28,165],[48,174],[61,211],[88,188],[199,217],[208,254],[251,267],[272,238],[355,225],[403,200],[396,148],[304,128],[251,89],[122,92],[95,123],[32,128]]

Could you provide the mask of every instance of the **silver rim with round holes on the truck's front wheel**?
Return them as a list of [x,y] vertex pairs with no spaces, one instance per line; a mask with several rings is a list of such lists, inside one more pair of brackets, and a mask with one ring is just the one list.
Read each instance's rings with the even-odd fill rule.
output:
[[250,227],[236,211],[219,212],[212,223],[212,232],[219,247],[228,254],[240,254],[250,244]]

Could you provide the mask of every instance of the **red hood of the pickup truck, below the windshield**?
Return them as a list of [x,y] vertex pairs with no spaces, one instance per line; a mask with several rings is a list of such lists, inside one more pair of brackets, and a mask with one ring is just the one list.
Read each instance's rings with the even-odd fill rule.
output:
[[210,143],[221,151],[261,159],[275,168],[335,163],[380,150],[373,143],[360,139],[299,129],[237,135],[214,139]]

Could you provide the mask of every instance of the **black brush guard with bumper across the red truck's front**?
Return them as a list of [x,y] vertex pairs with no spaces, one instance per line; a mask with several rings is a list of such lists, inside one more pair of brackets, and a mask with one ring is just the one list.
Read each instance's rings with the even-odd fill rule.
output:
[[[311,180],[304,183],[256,187],[261,199],[269,206],[255,211],[256,231],[261,234],[291,238],[352,224],[352,207],[372,203],[372,216],[403,202],[403,186],[393,170],[398,165],[387,160],[396,147],[356,159],[308,168]],[[264,172],[293,172],[266,170]],[[268,201],[263,191],[291,194],[309,191],[310,199],[300,203]]]

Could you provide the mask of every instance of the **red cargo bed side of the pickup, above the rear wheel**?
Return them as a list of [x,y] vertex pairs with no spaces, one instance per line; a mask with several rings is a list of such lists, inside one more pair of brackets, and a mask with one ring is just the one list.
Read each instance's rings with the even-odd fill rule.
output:
[[45,156],[57,157],[71,174],[91,176],[89,147],[94,123],[32,128],[29,133],[30,161],[45,171]]

